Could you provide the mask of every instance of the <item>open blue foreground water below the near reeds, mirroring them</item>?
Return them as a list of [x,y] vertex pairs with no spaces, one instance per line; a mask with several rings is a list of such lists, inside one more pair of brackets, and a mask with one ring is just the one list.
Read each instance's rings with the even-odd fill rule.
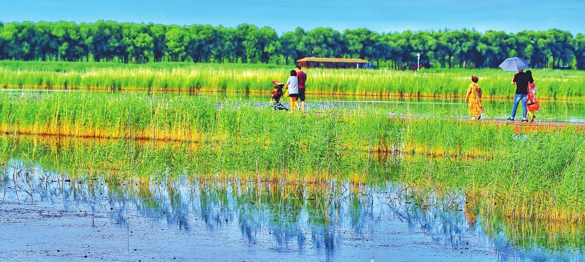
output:
[[8,166],[0,192],[0,260],[584,258],[582,246],[563,247],[563,241],[539,245],[545,242],[539,237],[555,236],[510,235],[508,225],[485,221],[465,206],[462,196],[450,205],[421,207],[402,193],[400,184],[352,188],[344,183],[329,193],[302,186],[188,180],[135,187],[67,181],[39,167],[23,170],[15,160]]

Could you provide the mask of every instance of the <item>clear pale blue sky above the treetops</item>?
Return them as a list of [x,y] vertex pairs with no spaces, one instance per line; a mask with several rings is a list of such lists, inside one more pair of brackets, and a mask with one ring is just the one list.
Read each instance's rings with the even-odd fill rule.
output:
[[1,22],[46,21],[269,26],[278,34],[296,27],[367,28],[378,33],[475,28],[518,32],[557,28],[585,33],[585,1],[380,1],[380,0],[1,0]]

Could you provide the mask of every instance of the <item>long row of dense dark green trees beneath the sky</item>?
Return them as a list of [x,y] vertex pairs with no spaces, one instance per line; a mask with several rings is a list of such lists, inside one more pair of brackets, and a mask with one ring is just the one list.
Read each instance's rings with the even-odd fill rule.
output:
[[421,63],[445,68],[495,68],[507,57],[533,68],[585,69],[585,35],[550,29],[505,33],[438,30],[376,33],[300,27],[280,37],[270,27],[154,25],[98,21],[0,22],[0,60],[163,61],[294,64],[303,57],[363,58],[404,68]]

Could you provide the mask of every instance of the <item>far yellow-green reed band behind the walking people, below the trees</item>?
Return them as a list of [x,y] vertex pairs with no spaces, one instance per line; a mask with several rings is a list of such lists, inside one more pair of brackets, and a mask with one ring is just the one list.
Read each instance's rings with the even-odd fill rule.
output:
[[[290,67],[242,64],[156,63],[126,65],[83,62],[0,62],[0,86],[40,89],[175,90],[263,92],[285,81]],[[511,97],[512,74],[498,69],[429,69],[421,72],[307,69],[307,92],[328,95],[463,97],[471,75],[484,97]],[[585,73],[535,69],[540,99],[578,100]]]

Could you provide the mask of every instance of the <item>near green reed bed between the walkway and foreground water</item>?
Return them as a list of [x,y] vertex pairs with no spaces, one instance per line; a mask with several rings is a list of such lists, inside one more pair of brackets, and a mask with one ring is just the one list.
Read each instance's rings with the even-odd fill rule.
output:
[[[115,138],[49,155],[78,176],[316,184],[390,178],[460,188],[474,205],[510,218],[577,223],[585,215],[585,141],[576,128],[515,135],[507,125],[391,120],[367,109],[304,116],[197,97],[93,93],[0,96],[0,128]],[[38,142],[30,143],[26,159],[35,159]],[[12,152],[8,145],[2,152]]]

